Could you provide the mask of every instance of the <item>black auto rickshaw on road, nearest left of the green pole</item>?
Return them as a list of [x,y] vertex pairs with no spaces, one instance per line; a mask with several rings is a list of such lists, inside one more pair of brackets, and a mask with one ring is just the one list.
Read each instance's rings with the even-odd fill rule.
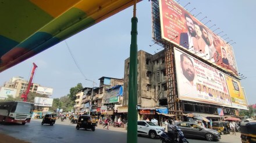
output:
[[91,129],[95,131],[96,121],[95,118],[91,118],[90,115],[80,115],[77,121],[76,129],[80,128]]

